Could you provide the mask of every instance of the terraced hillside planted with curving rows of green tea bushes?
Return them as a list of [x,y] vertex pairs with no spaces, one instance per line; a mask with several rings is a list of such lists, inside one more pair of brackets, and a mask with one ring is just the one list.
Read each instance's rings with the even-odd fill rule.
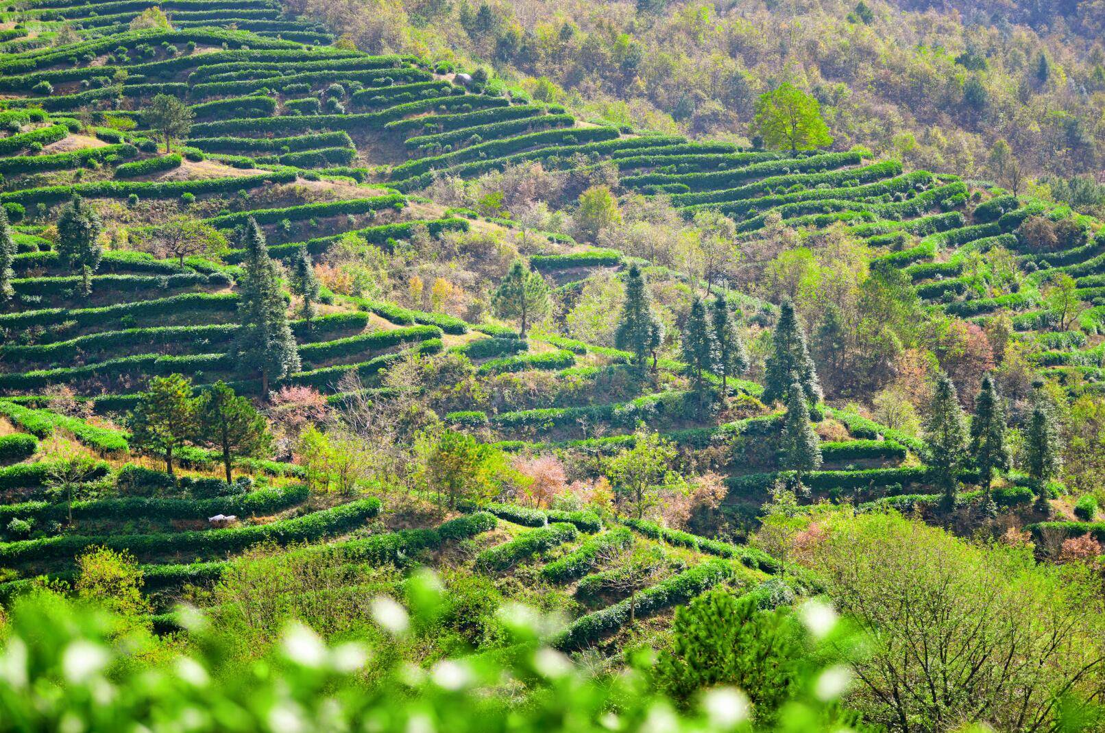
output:
[[[565,600],[575,620],[562,639],[576,649],[613,635],[627,616],[666,610],[723,579],[750,587],[781,567],[759,549],[649,522],[497,504],[402,527],[387,498],[381,507],[361,495],[380,493],[379,482],[364,481],[360,493],[320,489],[302,447],[284,446],[280,461],[241,459],[236,470],[256,484],[227,484],[211,475],[219,455],[188,446],[178,458],[189,473],[177,481],[138,468],[156,455],[131,447],[127,417],[151,377],[173,374],[198,394],[223,381],[259,404],[277,389],[317,390],[339,411],[419,392],[441,427],[506,453],[556,454],[589,484],[608,472],[607,459],[649,434],[643,425],[670,441],[681,467],[724,475],[716,516],[687,526],[699,521],[737,543],[796,478],[810,501],[890,504],[946,521],[916,431],[875,422],[848,395],[811,410],[824,465],[796,475],[779,451],[786,412],[759,399],[761,368],[749,379],[726,375],[723,389],[715,375],[696,374],[671,336],[663,358],[642,370],[633,354],[562,327],[581,292],[621,283],[634,266],[671,300],[724,300],[746,341],[766,344],[778,306],[734,289],[738,279],[724,268],[653,261],[551,214],[537,223],[504,216],[495,199],[473,208],[425,196],[536,164],[573,192],[610,181],[627,208],[670,207],[688,221],[724,214],[737,249],[780,232],[856,240],[871,254],[865,269],[905,278],[928,313],[988,327],[1008,318],[1009,343],[1040,375],[1091,391],[1102,381],[1105,232],[1062,207],[904,170],[862,149],[743,149],[582,122],[449,63],[329,45],[325,29],[267,0],[158,7],[168,24],[150,3],[129,0],[17,2],[0,13],[0,203],[18,248],[13,295],[0,312],[0,432],[34,437],[9,440],[23,448],[0,469],[9,591],[40,573],[71,576],[74,557],[99,545],[129,551],[166,603],[259,545],[317,543],[295,552],[362,565],[451,549],[470,569],[517,572],[577,599]],[[151,127],[149,109],[166,96],[194,118],[176,143],[180,133]],[[107,244],[86,272],[57,247],[59,216],[74,196],[98,212]],[[202,247],[180,245],[181,220],[202,232]],[[302,317],[302,294],[287,297],[298,368],[275,384],[232,350],[248,290],[241,232],[253,222],[287,290],[303,256],[326,275],[314,317]],[[559,307],[525,337],[486,313],[485,285],[515,254],[555,286]],[[391,280],[402,285],[385,289],[397,260],[408,269]],[[989,268],[999,260],[1002,276]],[[435,268],[432,286],[407,276],[415,264]],[[680,324],[666,325],[671,334]],[[439,360],[419,358],[431,356]],[[443,387],[396,376],[430,362],[445,365]],[[701,381],[709,409],[694,409]],[[74,453],[82,472],[66,478]],[[986,492],[974,470],[957,475],[958,516],[977,519]],[[1045,519],[1028,484],[1009,471],[993,492],[1018,526]],[[59,486],[73,485],[88,498],[61,501]],[[1062,485],[1044,490],[1065,505]],[[392,524],[377,520],[381,511]],[[207,519],[215,514],[242,524],[214,526]],[[1103,534],[1098,523],[1049,526]],[[655,549],[662,567],[650,586],[627,590],[609,574],[631,540]]]

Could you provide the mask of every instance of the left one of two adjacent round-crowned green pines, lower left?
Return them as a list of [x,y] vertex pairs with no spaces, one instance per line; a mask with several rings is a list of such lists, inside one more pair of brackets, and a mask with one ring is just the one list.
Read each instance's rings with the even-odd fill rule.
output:
[[130,416],[131,444],[161,451],[165,470],[172,475],[173,452],[196,434],[196,408],[190,379],[179,374],[154,377]]

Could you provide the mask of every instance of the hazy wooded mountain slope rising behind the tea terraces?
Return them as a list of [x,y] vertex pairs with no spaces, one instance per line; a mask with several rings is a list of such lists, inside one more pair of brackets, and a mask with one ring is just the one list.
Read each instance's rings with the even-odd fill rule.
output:
[[[1093,0],[1043,4],[288,7],[366,51],[487,63],[585,116],[746,139],[757,95],[793,81],[822,103],[838,149],[862,144],[918,168],[993,179],[1001,171],[990,154],[1006,140],[1027,176],[1094,179],[1105,168],[1105,10]],[[1077,203],[1099,207],[1099,190]]]

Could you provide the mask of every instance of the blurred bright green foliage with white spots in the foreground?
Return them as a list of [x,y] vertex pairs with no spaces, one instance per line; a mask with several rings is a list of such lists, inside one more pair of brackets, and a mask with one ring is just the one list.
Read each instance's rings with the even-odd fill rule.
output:
[[[397,643],[432,624],[440,584],[418,574],[406,605],[380,597],[377,624]],[[718,598],[704,603],[713,603]],[[727,603],[727,601],[723,601]],[[699,611],[713,612],[699,607]],[[804,642],[788,670],[791,694],[770,718],[753,722],[745,692],[709,688],[676,703],[649,682],[651,652],[630,655],[613,674],[591,676],[543,642],[555,624],[526,607],[504,607],[514,635],[506,649],[438,661],[429,669],[362,643],[328,646],[304,626],[242,671],[233,645],[202,615],[181,609],[188,629],[158,640],[125,618],[51,590],[19,598],[0,647],[0,730],[130,732],[494,733],[496,731],[841,731],[838,698],[849,683],[840,659],[846,632],[818,601],[800,607]],[[688,616],[686,622],[694,622]],[[810,653],[833,648],[833,653]],[[801,649],[801,651],[799,651]],[[777,650],[778,651],[778,650]],[[776,655],[778,656],[778,655]],[[233,663],[234,674],[223,674]],[[772,664],[772,668],[775,666]],[[768,670],[770,671],[770,670]],[[367,680],[371,679],[371,682]],[[754,693],[755,694],[755,693]]]

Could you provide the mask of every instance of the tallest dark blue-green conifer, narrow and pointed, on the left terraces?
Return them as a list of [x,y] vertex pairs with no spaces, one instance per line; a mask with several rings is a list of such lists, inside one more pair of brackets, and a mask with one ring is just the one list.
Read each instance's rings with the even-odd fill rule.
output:
[[241,325],[234,354],[241,368],[261,376],[262,395],[269,385],[299,368],[287,308],[280,289],[276,265],[269,256],[265,237],[250,217],[239,230],[238,245],[245,250],[238,321]]

